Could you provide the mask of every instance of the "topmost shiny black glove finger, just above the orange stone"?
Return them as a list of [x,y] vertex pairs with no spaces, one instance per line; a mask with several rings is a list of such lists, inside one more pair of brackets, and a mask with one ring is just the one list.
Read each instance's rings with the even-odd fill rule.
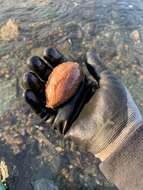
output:
[[66,57],[56,48],[46,48],[44,50],[44,59],[48,61],[52,67],[67,61]]

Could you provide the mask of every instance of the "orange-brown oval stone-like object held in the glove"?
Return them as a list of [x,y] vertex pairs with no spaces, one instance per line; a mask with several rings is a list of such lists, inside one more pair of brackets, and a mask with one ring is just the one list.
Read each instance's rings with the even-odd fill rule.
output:
[[54,68],[46,83],[46,106],[57,107],[71,98],[83,78],[81,67],[76,62],[65,62]]

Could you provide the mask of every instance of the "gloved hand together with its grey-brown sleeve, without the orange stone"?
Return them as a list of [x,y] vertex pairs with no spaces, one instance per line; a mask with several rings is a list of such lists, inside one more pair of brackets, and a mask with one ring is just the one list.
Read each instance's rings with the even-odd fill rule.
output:
[[[47,52],[45,59],[50,65],[65,61],[57,50]],[[99,157],[104,175],[119,189],[143,189],[140,111],[124,84],[102,64],[95,51],[87,53],[86,62],[86,80],[79,90],[63,106],[51,110],[45,108],[42,86],[52,67],[39,57],[31,58],[32,72],[24,77],[26,101],[48,125],[61,128],[65,138],[74,139]]]

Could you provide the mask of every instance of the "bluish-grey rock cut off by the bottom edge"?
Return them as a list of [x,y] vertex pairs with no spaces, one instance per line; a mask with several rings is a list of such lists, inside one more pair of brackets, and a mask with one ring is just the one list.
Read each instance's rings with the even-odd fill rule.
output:
[[34,190],[58,190],[58,187],[52,180],[44,178],[34,181],[32,185]]

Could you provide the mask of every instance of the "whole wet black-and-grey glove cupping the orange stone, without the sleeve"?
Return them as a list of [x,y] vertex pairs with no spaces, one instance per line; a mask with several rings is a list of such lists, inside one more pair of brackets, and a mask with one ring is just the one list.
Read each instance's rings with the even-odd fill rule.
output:
[[[64,56],[55,49],[46,52],[45,59],[51,65],[65,61]],[[29,65],[43,81],[47,80],[51,70],[42,59],[34,57]],[[86,65],[89,73],[85,69],[87,74],[83,88],[58,110],[45,108],[43,91],[40,90],[44,84],[31,72],[24,77],[28,88],[25,97],[41,117],[48,118],[50,125],[52,123],[66,132],[65,137],[84,144],[93,154],[98,154],[114,142],[124,129],[137,126],[142,117],[126,87],[107,70],[94,51],[87,53]],[[68,131],[65,126],[68,126]]]

